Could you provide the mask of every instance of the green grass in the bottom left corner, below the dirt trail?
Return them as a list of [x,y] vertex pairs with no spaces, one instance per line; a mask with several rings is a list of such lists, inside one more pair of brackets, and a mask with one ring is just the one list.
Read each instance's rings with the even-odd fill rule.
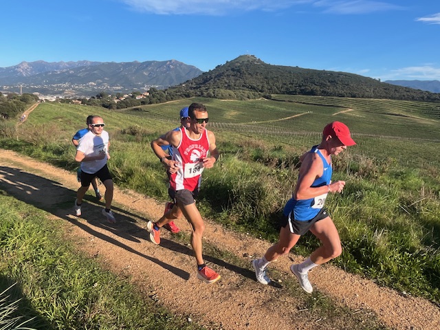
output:
[[0,195],[0,329],[200,329],[78,254],[46,215]]

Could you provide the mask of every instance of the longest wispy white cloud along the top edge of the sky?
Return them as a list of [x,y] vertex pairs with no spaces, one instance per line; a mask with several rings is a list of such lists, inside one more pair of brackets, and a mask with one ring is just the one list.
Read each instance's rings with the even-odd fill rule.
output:
[[228,12],[264,10],[274,11],[313,0],[120,0],[134,10],[153,14],[223,15]]

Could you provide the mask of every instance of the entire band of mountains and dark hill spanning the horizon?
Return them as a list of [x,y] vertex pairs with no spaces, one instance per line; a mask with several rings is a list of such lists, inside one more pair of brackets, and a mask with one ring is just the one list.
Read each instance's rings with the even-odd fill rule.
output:
[[[305,94],[406,100],[440,99],[438,80],[380,80],[347,72],[269,65],[242,55],[202,72],[175,60],[146,62],[22,62],[0,67],[0,91],[96,96],[168,89],[173,97],[256,98]],[[428,91],[427,91],[428,90]]]

